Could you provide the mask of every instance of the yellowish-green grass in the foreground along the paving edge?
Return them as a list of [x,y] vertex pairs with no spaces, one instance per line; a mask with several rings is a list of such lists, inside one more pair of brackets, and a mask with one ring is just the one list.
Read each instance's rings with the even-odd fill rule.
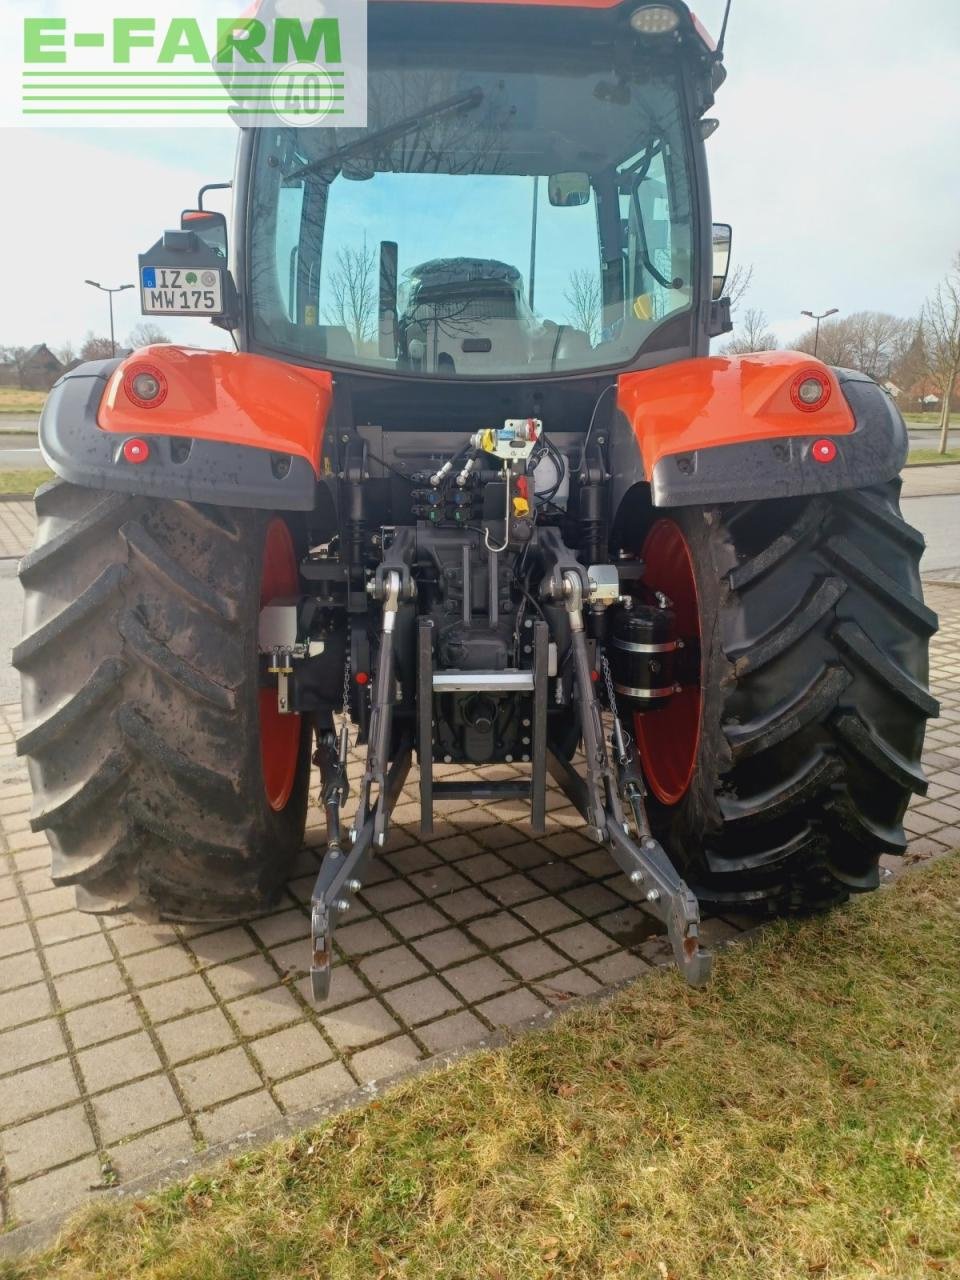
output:
[[960,1260],[960,856],[312,1133],[5,1280],[896,1280]]

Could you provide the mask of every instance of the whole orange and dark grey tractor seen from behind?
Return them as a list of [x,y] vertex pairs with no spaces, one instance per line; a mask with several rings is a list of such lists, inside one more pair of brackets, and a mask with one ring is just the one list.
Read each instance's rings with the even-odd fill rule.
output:
[[701,905],[826,906],[904,850],[936,714],[904,422],[805,355],[709,356],[723,68],[678,0],[370,0],[369,38],[366,129],[243,131],[229,248],[201,197],[141,257],[147,310],[238,349],[50,396],[33,826],[84,910],[242,918],[312,758],[324,998],[412,760],[426,837],[471,796],[543,833],[552,776],[700,983]]

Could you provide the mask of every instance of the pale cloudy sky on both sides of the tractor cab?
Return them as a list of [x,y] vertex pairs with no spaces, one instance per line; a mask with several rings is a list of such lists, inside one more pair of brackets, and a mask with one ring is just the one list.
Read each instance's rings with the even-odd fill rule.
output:
[[[716,35],[723,0],[695,8]],[[754,269],[744,306],[782,344],[804,308],[916,315],[960,251],[959,58],[960,0],[733,0],[713,212],[733,225],[733,265]],[[0,131],[0,344],[105,333],[106,297],[84,279],[133,282],[198,187],[232,175],[234,146],[232,128]],[[124,340],[137,292],[115,305]],[[229,340],[202,320],[164,328]]]

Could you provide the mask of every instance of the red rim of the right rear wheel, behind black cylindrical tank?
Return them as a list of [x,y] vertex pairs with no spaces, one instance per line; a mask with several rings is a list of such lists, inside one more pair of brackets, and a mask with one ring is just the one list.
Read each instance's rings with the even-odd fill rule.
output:
[[[646,535],[641,556],[646,585],[664,591],[673,602],[677,632],[687,640],[699,640],[696,579],[680,525],[667,518],[658,520]],[[690,786],[700,746],[701,704],[699,686],[685,685],[666,707],[634,717],[644,776],[663,804],[677,804]]]

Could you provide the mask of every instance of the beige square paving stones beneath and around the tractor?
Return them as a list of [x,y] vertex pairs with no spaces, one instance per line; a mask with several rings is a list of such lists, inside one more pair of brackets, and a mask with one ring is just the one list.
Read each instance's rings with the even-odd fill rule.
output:
[[[906,864],[960,845],[960,590],[928,585],[927,598],[941,614],[942,714],[928,727],[929,792],[908,815]],[[316,808],[269,915],[230,927],[101,920],[50,881],[18,727],[19,709],[0,707],[0,1224],[79,1206],[667,959],[660,925],[556,788],[536,840],[521,801],[453,800],[421,840],[413,771],[387,851],[338,929],[332,998],[317,1009],[306,975]],[[356,781],[358,760],[351,771]],[[712,919],[704,933],[723,941],[744,923]]]

